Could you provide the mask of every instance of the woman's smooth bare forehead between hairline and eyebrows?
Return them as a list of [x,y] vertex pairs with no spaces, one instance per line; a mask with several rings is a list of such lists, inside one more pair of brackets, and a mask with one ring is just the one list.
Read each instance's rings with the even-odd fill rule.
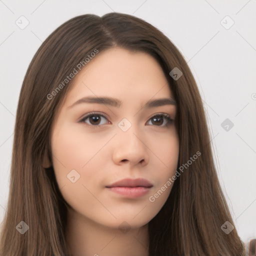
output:
[[78,70],[66,104],[86,95],[112,96],[122,101],[173,97],[161,66],[151,55],[120,47],[99,52]]

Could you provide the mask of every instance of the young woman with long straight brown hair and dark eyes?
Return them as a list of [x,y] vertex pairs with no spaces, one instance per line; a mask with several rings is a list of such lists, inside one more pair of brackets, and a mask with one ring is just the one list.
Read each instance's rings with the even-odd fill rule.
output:
[[122,13],[74,17],[24,77],[0,255],[245,253],[182,54]]

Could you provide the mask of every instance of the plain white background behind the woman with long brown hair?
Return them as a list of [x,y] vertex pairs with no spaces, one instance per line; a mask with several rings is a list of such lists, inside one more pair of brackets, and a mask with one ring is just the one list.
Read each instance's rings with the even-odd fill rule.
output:
[[[1,0],[0,221],[8,196],[18,96],[34,53],[66,20],[113,11],[156,26],[188,61],[238,234],[244,242],[256,238],[256,0]],[[15,24],[21,15],[29,21],[24,29]],[[222,25],[230,24],[226,15],[234,21],[228,29]],[[234,123],[228,131],[220,125],[226,118]]]

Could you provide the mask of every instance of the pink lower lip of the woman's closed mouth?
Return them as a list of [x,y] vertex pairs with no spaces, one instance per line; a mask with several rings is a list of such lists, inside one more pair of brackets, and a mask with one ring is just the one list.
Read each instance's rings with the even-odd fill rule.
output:
[[144,186],[135,186],[135,187],[113,186],[108,188],[113,192],[125,195],[126,197],[130,197],[130,198],[135,198],[135,197],[145,195],[150,190],[150,187],[144,187]]

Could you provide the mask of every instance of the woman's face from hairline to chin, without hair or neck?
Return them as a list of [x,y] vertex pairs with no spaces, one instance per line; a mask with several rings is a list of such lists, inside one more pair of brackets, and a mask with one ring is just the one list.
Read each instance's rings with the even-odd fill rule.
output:
[[[111,48],[76,74],[51,134],[54,173],[72,214],[113,228],[139,227],[157,214],[178,160],[171,99],[161,67],[143,52]],[[125,178],[147,184],[109,187]]]

